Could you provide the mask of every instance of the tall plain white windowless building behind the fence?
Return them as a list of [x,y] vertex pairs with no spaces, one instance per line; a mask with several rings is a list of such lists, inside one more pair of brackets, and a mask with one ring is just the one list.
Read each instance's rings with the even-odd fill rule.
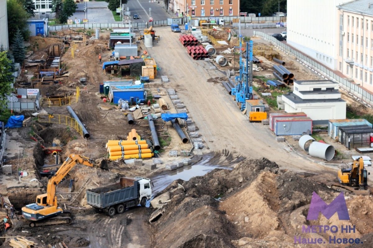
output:
[[337,69],[337,5],[351,0],[288,0],[287,42],[325,66]]

